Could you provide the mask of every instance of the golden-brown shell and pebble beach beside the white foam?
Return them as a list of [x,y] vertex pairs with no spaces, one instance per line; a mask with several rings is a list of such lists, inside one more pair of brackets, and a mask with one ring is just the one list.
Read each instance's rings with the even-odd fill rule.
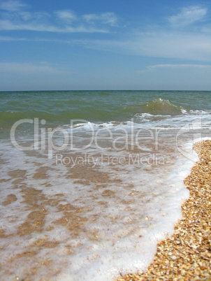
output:
[[146,271],[116,281],[211,280],[211,141],[194,144],[194,150],[199,160],[184,179],[190,194],[173,236],[158,243]]

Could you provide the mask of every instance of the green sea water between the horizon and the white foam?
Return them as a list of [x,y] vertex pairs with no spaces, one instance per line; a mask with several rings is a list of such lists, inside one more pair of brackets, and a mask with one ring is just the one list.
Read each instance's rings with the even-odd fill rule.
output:
[[[161,102],[159,99],[162,99]],[[48,124],[125,122],[136,115],[180,115],[182,110],[211,108],[211,92],[188,91],[50,91],[0,92],[0,128],[17,120],[44,119]]]

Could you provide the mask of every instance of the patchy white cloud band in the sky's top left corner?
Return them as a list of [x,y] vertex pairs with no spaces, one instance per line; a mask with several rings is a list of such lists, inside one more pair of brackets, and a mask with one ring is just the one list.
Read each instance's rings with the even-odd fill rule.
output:
[[114,13],[76,15],[72,10],[31,13],[18,0],[3,1],[0,15],[0,30],[105,33],[109,32],[110,27],[117,26]]

